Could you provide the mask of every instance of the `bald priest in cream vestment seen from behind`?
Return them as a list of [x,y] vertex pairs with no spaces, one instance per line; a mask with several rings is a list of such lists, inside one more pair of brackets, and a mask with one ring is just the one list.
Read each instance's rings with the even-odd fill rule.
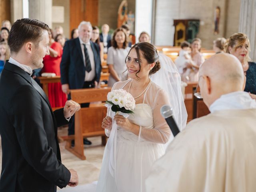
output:
[[254,192],[256,101],[243,92],[242,66],[230,54],[216,54],[202,64],[199,77],[211,114],[174,138],[152,166],[147,192]]

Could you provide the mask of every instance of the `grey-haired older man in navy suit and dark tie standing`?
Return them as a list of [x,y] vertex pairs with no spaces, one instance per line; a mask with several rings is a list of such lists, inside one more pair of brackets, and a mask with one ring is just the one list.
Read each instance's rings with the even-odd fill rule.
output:
[[[78,26],[78,34],[78,38],[66,41],[60,62],[62,91],[68,94],[68,98],[70,98],[69,89],[97,87],[102,69],[100,47],[90,41],[92,36],[90,22],[82,21]],[[81,105],[81,107],[88,106],[89,103]],[[68,126],[68,135],[74,135],[74,116]],[[84,139],[84,144],[91,142]]]

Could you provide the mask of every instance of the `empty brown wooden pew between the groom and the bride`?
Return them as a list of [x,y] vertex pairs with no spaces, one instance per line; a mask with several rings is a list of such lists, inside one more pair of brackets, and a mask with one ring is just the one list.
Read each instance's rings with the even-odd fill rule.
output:
[[[88,103],[105,101],[111,88],[89,88],[70,90],[71,99],[75,102]],[[66,150],[76,155],[81,160],[84,156],[84,137],[102,136],[102,145],[106,145],[105,130],[101,128],[102,120],[106,117],[107,108],[103,104],[90,104],[88,108],[81,108],[75,114],[75,135],[62,136],[66,140]],[[71,140],[75,140],[75,146],[71,147]]]

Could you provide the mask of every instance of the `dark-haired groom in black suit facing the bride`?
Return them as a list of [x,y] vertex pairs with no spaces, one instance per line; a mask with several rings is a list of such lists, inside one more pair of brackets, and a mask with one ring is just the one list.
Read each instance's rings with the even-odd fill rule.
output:
[[31,77],[49,54],[48,30],[43,22],[25,18],[10,31],[11,57],[0,75],[1,192],[56,192],[56,186],[78,184],[76,171],[61,163],[57,127],[67,124],[80,106],[67,101],[52,112]]

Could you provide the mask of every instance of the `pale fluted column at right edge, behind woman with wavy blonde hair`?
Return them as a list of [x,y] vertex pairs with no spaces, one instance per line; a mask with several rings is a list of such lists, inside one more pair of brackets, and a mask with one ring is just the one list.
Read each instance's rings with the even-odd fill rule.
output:
[[245,33],[250,40],[250,58],[256,62],[256,2],[241,0],[239,32]]

